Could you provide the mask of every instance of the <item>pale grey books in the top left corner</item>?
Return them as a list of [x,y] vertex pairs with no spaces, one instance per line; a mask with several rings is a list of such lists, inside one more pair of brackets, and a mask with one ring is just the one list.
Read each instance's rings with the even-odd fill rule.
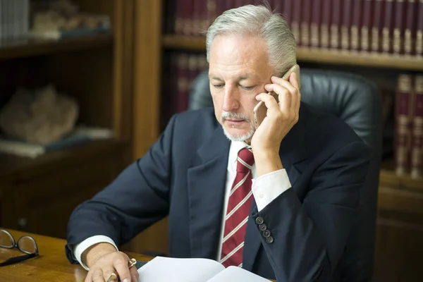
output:
[[30,0],[0,0],[0,40],[26,38],[30,28]]

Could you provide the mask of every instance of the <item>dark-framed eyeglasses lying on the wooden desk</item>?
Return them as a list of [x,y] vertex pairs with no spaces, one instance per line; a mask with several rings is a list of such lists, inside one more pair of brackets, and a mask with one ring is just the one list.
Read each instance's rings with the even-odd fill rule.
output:
[[0,229],[0,247],[5,247],[6,249],[18,249],[20,252],[25,252],[26,255],[20,255],[18,257],[11,257],[5,262],[1,262],[0,266],[6,266],[9,264],[16,264],[18,262],[23,262],[27,259],[32,259],[32,257],[38,257],[38,247],[34,238],[28,235],[24,235],[19,238],[18,243],[16,243],[15,238],[12,234],[4,229]]

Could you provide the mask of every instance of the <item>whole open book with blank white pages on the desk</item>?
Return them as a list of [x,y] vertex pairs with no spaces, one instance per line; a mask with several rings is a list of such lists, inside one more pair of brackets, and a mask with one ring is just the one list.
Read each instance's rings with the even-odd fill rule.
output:
[[269,282],[238,266],[221,265],[212,259],[154,257],[138,269],[138,282]]

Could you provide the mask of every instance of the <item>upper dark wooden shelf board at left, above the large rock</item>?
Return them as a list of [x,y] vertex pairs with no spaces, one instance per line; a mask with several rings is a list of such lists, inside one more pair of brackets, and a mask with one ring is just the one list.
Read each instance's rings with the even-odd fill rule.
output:
[[0,42],[0,60],[51,54],[61,51],[111,46],[110,33],[67,39],[27,39]]

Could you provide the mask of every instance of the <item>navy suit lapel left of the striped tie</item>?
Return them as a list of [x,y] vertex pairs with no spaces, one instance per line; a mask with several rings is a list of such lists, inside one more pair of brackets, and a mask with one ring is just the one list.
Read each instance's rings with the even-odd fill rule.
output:
[[188,168],[191,257],[216,259],[230,141],[219,125]]

